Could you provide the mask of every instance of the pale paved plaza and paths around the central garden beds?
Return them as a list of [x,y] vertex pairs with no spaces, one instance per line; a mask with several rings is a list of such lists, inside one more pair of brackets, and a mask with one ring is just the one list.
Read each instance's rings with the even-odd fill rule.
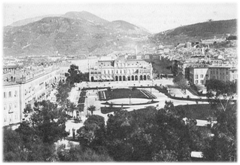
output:
[[[167,86],[167,85],[173,85],[172,79],[158,79],[158,80],[153,80],[153,81],[123,81],[123,82],[82,82],[75,84],[75,87],[72,88],[70,94],[69,94],[69,100],[75,105],[78,104],[78,99],[80,96],[80,93],[82,91],[82,88],[95,88],[95,87],[111,87],[111,88],[127,88],[129,86],[155,86],[155,85],[162,85],[162,86]],[[66,123],[66,131],[70,132],[69,136],[72,136],[72,129],[79,129],[80,127],[83,126],[84,121],[87,119],[86,116],[90,114],[90,112],[87,110],[88,107],[91,105],[96,107],[96,110],[93,112],[94,115],[100,115],[104,117],[105,122],[108,120],[108,114],[103,114],[101,113],[101,107],[106,107],[109,105],[103,105],[102,103],[105,103],[106,101],[100,101],[98,99],[98,91],[100,90],[106,90],[106,89],[93,89],[93,90],[87,90],[86,92],[86,99],[84,103],[84,111],[80,113],[80,117],[82,122],[80,123],[75,123],[73,120],[69,120]],[[136,109],[141,109],[141,108],[146,108],[148,106],[154,106],[157,109],[161,109],[165,106],[166,101],[171,101],[175,106],[177,105],[190,105],[190,104],[196,104],[194,101],[185,101],[185,100],[175,100],[167,97],[165,94],[159,92],[158,90],[154,88],[144,88],[144,90],[149,91],[153,95],[156,96],[156,99],[154,101],[157,101],[157,103],[149,103],[146,105],[128,105],[128,108],[124,108],[127,111],[133,111]],[[176,91],[174,91],[176,90]],[[174,89],[171,92],[175,92],[174,94],[179,97],[184,97],[182,95],[182,92],[179,89]],[[188,91],[187,91],[188,92]],[[190,92],[186,93],[186,95],[190,95],[192,98],[197,98],[198,96],[192,95]],[[185,97],[186,97],[185,95]],[[134,98],[132,98],[132,101]],[[149,99],[136,99],[136,102],[139,103],[139,101],[143,102],[150,102],[151,100]],[[121,98],[121,99],[113,99],[110,100],[110,102],[113,103],[128,103],[129,98]],[[207,104],[207,102],[201,102],[201,104]],[[121,105],[114,105],[114,107],[121,107]],[[109,113],[112,114],[113,112]],[[208,124],[208,121],[202,121],[202,120],[197,120],[197,125],[199,126],[206,126]]]

